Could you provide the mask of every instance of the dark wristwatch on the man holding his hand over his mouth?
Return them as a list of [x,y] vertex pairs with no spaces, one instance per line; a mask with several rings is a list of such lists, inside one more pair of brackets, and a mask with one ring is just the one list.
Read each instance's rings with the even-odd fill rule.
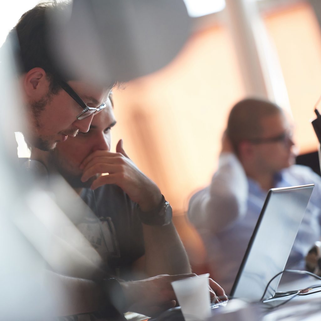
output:
[[160,204],[155,209],[148,212],[143,212],[139,205],[136,204],[136,213],[143,224],[157,226],[168,225],[172,221],[173,215],[172,207],[165,200],[164,195],[162,195]]

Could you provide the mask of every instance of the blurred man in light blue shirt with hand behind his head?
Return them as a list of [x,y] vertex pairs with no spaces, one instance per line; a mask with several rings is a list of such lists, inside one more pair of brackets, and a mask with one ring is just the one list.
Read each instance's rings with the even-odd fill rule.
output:
[[319,240],[321,178],[294,162],[291,126],[280,107],[245,99],[232,108],[219,168],[211,185],[191,197],[188,209],[208,247],[212,277],[227,293],[270,188],[315,184],[287,267],[304,268],[304,257]]

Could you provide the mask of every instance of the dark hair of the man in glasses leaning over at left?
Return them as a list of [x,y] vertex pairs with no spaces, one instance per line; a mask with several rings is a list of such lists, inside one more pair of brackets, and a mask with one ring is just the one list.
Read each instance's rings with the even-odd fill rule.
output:
[[55,78],[61,77],[61,75],[59,75],[48,49],[50,36],[47,18],[48,14],[53,11],[63,11],[69,5],[69,2],[57,3],[56,1],[37,4],[21,16],[8,36],[10,37],[13,32],[17,34],[20,46],[16,58],[21,66],[20,72],[23,74],[35,67],[43,68],[50,82],[49,90],[53,93],[60,89]]

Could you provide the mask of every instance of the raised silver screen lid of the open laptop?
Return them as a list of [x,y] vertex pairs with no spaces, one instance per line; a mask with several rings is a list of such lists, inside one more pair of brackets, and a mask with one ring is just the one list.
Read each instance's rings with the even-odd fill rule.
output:
[[249,241],[231,297],[257,302],[274,296],[314,184],[269,190]]

